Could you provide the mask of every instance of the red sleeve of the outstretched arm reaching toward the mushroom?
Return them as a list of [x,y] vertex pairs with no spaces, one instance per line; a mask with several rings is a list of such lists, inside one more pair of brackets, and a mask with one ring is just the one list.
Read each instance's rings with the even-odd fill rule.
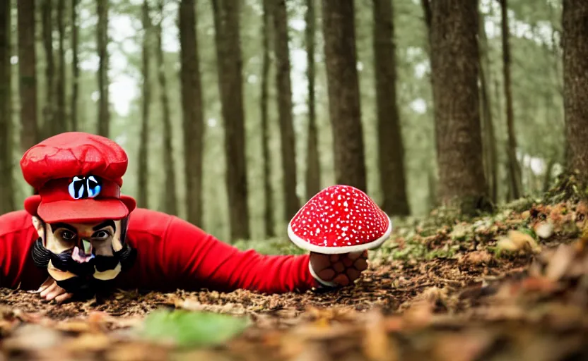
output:
[[243,288],[261,293],[318,286],[308,269],[308,255],[240,251],[177,217],[170,222],[163,243],[163,269],[175,283],[190,286],[199,283],[216,290]]

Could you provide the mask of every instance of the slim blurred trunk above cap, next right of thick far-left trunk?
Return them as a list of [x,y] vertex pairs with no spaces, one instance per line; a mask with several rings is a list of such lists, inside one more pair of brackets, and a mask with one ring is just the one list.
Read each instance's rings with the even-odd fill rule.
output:
[[53,59],[53,19],[52,0],[43,1],[42,26],[43,26],[43,48],[45,49],[45,107],[43,109],[42,137],[50,137],[57,134],[57,123],[53,121],[54,115],[54,59]]

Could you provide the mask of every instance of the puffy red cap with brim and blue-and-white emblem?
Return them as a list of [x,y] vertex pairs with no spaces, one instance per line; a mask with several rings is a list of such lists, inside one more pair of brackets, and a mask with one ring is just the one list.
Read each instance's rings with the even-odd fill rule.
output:
[[132,197],[120,194],[127,165],[127,153],[106,137],[49,137],[20,159],[25,181],[39,192],[25,200],[25,209],[47,223],[122,219],[136,207]]

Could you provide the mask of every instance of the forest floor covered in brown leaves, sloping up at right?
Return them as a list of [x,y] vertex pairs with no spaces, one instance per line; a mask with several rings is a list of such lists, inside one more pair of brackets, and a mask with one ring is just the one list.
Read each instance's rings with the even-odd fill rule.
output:
[[0,360],[586,360],[587,214],[523,200],[476,219],[405,220],[336,293],[57,305],[0,289]]

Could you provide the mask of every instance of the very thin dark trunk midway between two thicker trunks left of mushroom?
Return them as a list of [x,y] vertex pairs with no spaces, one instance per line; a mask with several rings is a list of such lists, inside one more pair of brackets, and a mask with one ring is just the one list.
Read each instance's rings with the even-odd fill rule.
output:
[[271,188],[271,159],[269,155],[269,123],[268,123],[268,98],[269,98],[269,33],[271,31],[271,8],[269,1],[264,0],[264,20],[261,25],[261,42],[264,55],[261,60],[261,151],[264,162],[264,224],[266,238],[276,235],[274,225],[274,195]]

